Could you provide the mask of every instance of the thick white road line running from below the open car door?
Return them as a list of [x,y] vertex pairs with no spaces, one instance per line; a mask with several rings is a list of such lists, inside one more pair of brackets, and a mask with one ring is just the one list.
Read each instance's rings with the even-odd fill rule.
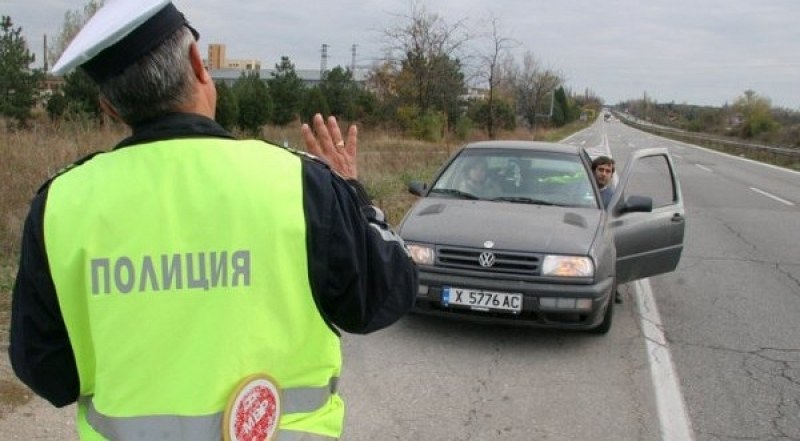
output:
[[634,292],[639,306],[642,332],[647,345],[650,377],[656,394],[658,421],[662,441],[692,441],[694,433],[689,413],[683,402],[678,375],[672,363],[667,339],[664,337],[661,317],[658,315],[650,280],[634,282]]

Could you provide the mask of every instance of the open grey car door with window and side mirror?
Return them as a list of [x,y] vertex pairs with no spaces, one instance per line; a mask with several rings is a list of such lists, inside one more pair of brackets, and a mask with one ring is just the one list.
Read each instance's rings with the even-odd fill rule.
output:
[[675,166],[667,149],[634,151],[608,206],[617,247],[617,283],[674,271],[686,226]]

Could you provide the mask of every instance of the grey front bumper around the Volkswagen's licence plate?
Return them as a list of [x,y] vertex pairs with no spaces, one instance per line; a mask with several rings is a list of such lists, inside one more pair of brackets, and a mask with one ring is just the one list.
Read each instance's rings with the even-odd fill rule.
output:
[[[605,278],[593,284],[552,283],[510,278],[486,278],[430,272],[419,273],[420,289],[414,312],[450,318],[523,325],[542,328],[586,330],[603,321],[609,298],[614,295],[614,279]],[[442,301],[444,287],[459,287],[476,290],[521,293],[522,311],[483,311],[464,306],[445,306]],[[541,299],[590,299],[587,309],[552,306],[552,301]],[[570,302],[562,302],[570,303]]]

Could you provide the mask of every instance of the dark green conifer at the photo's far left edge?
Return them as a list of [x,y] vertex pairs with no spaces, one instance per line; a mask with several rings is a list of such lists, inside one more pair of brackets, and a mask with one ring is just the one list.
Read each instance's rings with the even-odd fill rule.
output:
[[24,126],[36,103],[43,74],[29,68],[35,57],[22,37],[22,28],[14,28],[11,17],[4,15],[0,30],[0,114]]

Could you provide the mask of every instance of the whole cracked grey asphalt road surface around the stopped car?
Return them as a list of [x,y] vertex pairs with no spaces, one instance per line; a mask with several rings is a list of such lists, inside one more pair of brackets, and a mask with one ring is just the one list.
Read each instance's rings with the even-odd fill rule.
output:
[[[677,271],[621,287],[605,336],[413,315],[345,335],[343,439],[800,440],[800,174],[619,122],[567,142],[621,162],[670,149],[687,215]],[[645,337],[648,301],[665,341]],[[73,411],[3,409],[0,437],[75,439]]]

